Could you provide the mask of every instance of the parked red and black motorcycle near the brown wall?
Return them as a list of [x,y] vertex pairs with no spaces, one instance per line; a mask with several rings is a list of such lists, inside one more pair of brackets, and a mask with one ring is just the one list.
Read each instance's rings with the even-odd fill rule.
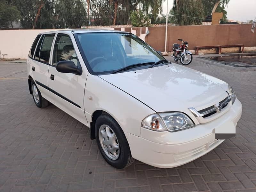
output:
[[193,59],[192,53],[188,51],[188,42],[184,42],[182,39],[178,40],[182,41],[182,44],[180,45],[175,43],[172,45],[172,57],[174,58],[174,61],[180,60],[182,65],[188,65]]

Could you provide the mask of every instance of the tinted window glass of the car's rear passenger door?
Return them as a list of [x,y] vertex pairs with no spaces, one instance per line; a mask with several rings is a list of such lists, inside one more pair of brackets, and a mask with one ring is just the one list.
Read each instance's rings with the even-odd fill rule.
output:
[[35,59],[49,64],[52,41],[55,34],[44,35],[36,48]]

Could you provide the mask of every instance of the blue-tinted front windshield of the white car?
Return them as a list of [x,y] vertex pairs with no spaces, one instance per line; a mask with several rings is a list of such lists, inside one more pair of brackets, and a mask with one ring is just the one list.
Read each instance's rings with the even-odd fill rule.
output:
[[[155,63],[164,57],[139,37],[130,33],[80,33],[76,42],[87,68],[94,75],[110,74],[118,69],[139,64]],[[136,69],[147,68],[141,66]]]

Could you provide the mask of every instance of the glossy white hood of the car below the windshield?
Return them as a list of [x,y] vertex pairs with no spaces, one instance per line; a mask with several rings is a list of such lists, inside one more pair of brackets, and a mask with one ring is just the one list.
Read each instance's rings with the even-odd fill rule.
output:
[[173,63],[100,77],[156,112],[201,110],[228,96],[224,81]]

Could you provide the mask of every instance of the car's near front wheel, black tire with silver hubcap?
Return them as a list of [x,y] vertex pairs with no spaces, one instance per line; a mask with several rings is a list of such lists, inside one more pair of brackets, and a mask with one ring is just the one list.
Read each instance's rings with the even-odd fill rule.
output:
[[102,114],[97,118],[95,136],[100,153],[108,164],[123,169],[134,162],[124,132],[113,117]]

